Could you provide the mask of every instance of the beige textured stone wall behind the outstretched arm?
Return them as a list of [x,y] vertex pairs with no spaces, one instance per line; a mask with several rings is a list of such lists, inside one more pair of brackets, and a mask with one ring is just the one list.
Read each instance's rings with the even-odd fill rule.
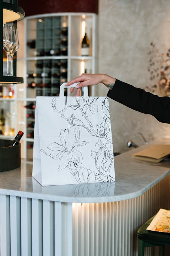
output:
[[[151,85],[147,70],[150,43],[155,42],[160,53],[170,47],[170,1],[99,0],[98,21],[98,71],[139,88]],[[106,93],[106,87],[99,85],[98,94]],[[149,142],[170,136],[169,124],[113,100],[109,104],[115,152],[128,150],[126,142],[137,132]],[[133,140],[143,143],[139,136]]]

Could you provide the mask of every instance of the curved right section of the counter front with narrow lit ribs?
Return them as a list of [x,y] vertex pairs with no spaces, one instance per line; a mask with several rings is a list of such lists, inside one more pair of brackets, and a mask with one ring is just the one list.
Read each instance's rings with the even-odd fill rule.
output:
[[[170,176],[129,200],[73,203],[73,255],[137,256],[137,230],[160,208],[170,209],[169,187]],[[146,248],[150,255],[158,248]]]

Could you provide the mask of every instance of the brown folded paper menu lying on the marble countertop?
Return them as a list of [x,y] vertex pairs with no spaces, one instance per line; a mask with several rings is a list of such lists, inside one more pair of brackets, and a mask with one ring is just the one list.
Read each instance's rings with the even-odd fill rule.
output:
[[163,145],[152,145],[149,148],[146,148],[144,150],[141,150],[135,154],[132,155],[132,157],[144,160],[144,161],[150,161],[150,162],[160,162],[165,157],[170,155],[170,145],[163,144]]

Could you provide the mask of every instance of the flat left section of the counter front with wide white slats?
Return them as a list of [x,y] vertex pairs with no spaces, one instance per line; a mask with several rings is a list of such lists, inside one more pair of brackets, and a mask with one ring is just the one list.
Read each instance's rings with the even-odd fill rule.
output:
[[71,203],[0,195],[0,255],[72,255]]

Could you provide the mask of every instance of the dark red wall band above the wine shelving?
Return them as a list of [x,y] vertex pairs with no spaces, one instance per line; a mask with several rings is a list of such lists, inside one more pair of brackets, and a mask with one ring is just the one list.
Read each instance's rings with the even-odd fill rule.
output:
[[98,0],[18,0],[18,5],[25,11],[25,16],[57,12],[98,13]]

